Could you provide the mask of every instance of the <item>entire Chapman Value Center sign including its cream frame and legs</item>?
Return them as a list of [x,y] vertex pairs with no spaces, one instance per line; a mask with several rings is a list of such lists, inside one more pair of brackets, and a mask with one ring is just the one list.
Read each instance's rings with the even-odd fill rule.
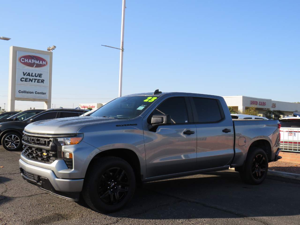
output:
[[15,101],[40,101],[51,108],[52,54],[10,46],[8,111],[15,110]]

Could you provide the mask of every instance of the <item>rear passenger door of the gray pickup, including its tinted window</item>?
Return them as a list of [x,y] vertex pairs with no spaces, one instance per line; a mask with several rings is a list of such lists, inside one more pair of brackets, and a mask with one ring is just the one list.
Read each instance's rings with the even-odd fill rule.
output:
[[197,130],[197,170],[223,167],[233,158],[233,123],[231,117],[225,118],[220,101],[226,104],[217,97],[190,97]]

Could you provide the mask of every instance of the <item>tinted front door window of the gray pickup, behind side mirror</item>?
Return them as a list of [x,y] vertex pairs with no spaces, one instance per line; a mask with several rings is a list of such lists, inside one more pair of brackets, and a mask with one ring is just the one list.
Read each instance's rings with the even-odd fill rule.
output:
[[188,122],[183,97],[168,98],[153,111],[152,115],[170,115],[172,124]]

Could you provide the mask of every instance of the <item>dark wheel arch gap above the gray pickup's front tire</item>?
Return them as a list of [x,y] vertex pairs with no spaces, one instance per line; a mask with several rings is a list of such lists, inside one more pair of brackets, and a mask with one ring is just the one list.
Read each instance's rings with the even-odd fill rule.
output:
[[118,149],[108,149],[108,150],[99,152],[97,155],[95,155],[91,159],[91,161],[88,165],[88,168],[86,170],[86,173],[88,173],[92,162],[94,162],[95,160],[97,160],[99,158],[106,157],[106,156],[119,157],[119,158],[122,158],[125,161],[127,161],[131,165],[132,169],[134,170],[136,181],[141,182],[141,180],[143,178],[141,175],[140,160],[139,160],[139,157],[137,156],[137,154],[131,149],[118,148]]

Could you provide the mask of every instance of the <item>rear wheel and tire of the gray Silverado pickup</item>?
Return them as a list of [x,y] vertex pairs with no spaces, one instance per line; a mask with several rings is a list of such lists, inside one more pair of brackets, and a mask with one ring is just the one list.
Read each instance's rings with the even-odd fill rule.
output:
[[247,155],[244,169],[239,171],[247,184],[261,184],[268,172],[268,157],[263,149],[256,148]]

